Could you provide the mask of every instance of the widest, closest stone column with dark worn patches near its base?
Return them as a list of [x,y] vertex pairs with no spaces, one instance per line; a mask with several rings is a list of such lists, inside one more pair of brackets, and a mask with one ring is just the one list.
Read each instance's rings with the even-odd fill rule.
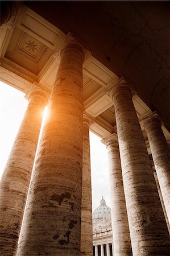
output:
[[84,48],[68,39],[61,48],[17,255],[80,255],[83,61]]

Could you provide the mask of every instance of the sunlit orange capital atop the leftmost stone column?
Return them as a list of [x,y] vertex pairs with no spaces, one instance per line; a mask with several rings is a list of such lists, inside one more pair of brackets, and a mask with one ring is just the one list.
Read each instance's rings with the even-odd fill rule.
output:
[[38,84],[38,82],[34,82],[30,89],[28,89],[25,98],[30,101],[30,99],[34,96],[38,96],[43,98],[43,100],[48,104],[49,97],[51,95],[50,90],[43,88]]

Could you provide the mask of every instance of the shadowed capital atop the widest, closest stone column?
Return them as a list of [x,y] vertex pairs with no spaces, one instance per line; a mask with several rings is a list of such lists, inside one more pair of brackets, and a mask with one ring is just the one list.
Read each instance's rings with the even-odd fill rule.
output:
[[73,37],[73,35],[71,33],[69,33],[67,35],[63,44],[60,47],[60,51],[59,51],[60,57],[61,57],[61,54],[63,53],[63,51],[65,51],[66,49],[68,49],[70,47],[76,48],[82,53],[82,58],[83,58],[82,62],[84,62],[85,55],[86,55],[85,48],[80,43],[78,43],[78,41]]

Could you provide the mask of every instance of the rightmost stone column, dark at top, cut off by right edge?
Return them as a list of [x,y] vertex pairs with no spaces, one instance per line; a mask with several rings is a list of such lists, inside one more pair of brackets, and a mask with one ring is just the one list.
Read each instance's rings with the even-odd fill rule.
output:
[[170,223],[170,150],[161,130],[161,122],[156,113],[146,117],[143,121],[150,143],[161,195]]

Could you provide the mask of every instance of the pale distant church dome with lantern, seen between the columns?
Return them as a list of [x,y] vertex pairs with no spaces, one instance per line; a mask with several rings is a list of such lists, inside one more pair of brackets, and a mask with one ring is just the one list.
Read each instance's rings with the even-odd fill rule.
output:
[[106,201],[105,199],[103,199],[103,196],[102,196],[99,207],[97,207],[96,210],[94,210],[93,212],[93,219],[109,217],[110,212],[111,212],[111,209],[106,205]]

